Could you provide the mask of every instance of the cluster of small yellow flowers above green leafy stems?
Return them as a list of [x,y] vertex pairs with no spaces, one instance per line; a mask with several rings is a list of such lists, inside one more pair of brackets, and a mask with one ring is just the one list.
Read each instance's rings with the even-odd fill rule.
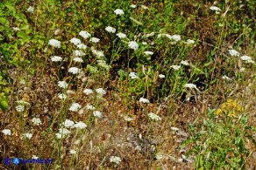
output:
[[229,117],[235,117],[239,112],[242,112],[242,107],[238,104],[237,100],[228,99],[217,111],[216,115],[221,113],[227,114]]

